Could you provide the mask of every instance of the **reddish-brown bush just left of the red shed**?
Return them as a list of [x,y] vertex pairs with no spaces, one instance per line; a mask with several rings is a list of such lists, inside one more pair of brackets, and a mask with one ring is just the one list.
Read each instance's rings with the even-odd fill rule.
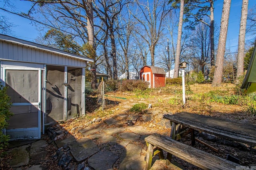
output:
[[118,85],[120,91],[134,91],[148,89],[148,82],[142,80],[123,80],[122,87]]

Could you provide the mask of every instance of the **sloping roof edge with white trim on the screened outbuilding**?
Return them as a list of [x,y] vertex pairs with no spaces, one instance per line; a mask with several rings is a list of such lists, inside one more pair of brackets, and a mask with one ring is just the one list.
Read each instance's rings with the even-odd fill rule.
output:
[[32,49],[38,49],[40,51],[47,51],[47,52],[50,52],[50,53],[55,53],[55,54],[58,54],[58,55],[63,55],[63,56],[66,56],[66,57],[71,57],[73,59],[78,59],[78,60],[82,60],[82,61],[88,61],[88,62],[91,62],[91,63],[93,62],[93,59],[90,59],[88,57],[84,57],[84,56],[81,56],[81,55],[76,55],[76,54],[68,53],[66,51],[62,51],[62,50],[59,50],[59,49],[54,49],[52,47],[47,47],[47,46],[40,45],[40,44],[37,44],[37,43],[32,43],[30,41],[25,41],[25,40],[18,39],[18,38],[15,38],[15,37],[10,37],[8,35],[0,34],[0,41],[12,43],[12,44],[22,45],[22,46],[29,47],[29,48],[32,48]]

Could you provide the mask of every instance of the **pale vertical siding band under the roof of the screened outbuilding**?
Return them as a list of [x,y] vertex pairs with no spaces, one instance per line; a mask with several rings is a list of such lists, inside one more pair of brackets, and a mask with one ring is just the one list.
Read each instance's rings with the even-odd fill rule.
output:
[[29,63],[86,67],[86,61],[0,41],[0,59]]

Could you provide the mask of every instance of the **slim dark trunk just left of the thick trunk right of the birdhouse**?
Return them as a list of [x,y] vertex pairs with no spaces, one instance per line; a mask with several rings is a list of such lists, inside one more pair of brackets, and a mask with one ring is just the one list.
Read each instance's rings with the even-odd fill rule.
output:
[[214,13],[213,13],[213,1],[210,0],[210,42],[211,42],[211,67],[215,64],[214,59]]

